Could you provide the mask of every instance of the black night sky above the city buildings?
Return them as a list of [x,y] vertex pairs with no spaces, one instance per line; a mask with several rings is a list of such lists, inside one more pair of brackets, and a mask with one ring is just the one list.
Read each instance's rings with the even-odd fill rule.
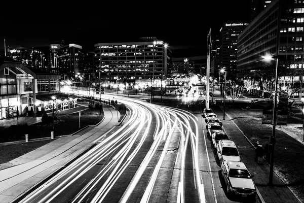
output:
[[206,55],[210,28],[216,38],[223,22],[249,22],[249,0],[95,2],[2,2],[0,49],[4,39],[11,47],[49,46],[63,40],[93,51],[97,43],[157,37],[176,57],[198,56]]

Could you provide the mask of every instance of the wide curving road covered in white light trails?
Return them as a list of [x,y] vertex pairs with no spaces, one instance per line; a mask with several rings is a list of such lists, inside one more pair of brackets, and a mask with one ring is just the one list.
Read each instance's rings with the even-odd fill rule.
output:
[[130,108],[130,117],[22,202],[205,202],[197,118],[118,99]]

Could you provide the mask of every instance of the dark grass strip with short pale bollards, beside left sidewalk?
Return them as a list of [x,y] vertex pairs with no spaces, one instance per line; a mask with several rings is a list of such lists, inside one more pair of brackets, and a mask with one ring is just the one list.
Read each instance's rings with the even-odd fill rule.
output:
[[58,117],[58,120],[53,123],[44,124],[42,122],[33,125],[19,124],[12,125],[9,128],[0,128],[0,142],[13,142],[25,140],[25,134],[28,134],[29,139],[51,137],[51,131],[54,131],[54,136],[63,136],[72,134],[81,128],[88,125],[96,125],[103,118],[103,111],[100,114],[99,109],[87,109],[81,112],[79,127],[79,113],[68,114]]

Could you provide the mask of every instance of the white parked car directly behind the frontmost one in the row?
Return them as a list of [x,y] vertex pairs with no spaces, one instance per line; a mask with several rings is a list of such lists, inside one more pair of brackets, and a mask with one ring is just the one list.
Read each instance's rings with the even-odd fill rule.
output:
[[219,164],[223,161],[241,161],[239,150],[232,140],[220,140],[217,143]]

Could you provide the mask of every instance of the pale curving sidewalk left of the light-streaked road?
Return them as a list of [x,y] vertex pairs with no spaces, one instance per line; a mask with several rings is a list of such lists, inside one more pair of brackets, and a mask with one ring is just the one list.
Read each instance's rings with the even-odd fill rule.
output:
[[[104,108],[104,119],[85,133],[60,137],[9,163],[12,167],[0,170],[0,202],[16,202],[47,179],[59,173],[72,161],[93,148],[93,142],[113,126],[118,125],[120,114]],[[31,120],[32,118],[29,118]]]

